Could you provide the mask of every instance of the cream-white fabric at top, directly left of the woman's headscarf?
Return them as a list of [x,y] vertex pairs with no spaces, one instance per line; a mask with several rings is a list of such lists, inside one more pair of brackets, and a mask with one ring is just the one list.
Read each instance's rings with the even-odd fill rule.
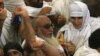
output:
[[69,0],[52,0],[52,13],[64,15],[66,20],[69,18]]

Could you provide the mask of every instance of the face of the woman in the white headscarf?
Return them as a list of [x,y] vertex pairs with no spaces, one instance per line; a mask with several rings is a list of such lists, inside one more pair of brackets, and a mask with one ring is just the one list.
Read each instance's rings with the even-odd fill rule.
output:
[[82,27],[83,17],[71,17],[71,22],[76,29]]

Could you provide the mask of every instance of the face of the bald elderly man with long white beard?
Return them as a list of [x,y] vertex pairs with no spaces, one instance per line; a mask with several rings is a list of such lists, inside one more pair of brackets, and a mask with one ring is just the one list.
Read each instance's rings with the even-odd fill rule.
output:
[[45,37],[51,37],[53,33],[53,27],[50,19],[48,17],[42,18],[42,20],[39,20],[39,29],[41,33]]

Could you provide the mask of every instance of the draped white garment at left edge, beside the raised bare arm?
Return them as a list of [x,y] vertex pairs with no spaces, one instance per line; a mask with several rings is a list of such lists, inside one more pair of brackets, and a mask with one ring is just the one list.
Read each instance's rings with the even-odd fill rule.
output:
[[7,17],[3,23],[2,32],[0,36],[0,46],[3,47],[8,42],[19,42],[20,38],[18,38],[17,32],[11,26],[12,14],[7,10]]

